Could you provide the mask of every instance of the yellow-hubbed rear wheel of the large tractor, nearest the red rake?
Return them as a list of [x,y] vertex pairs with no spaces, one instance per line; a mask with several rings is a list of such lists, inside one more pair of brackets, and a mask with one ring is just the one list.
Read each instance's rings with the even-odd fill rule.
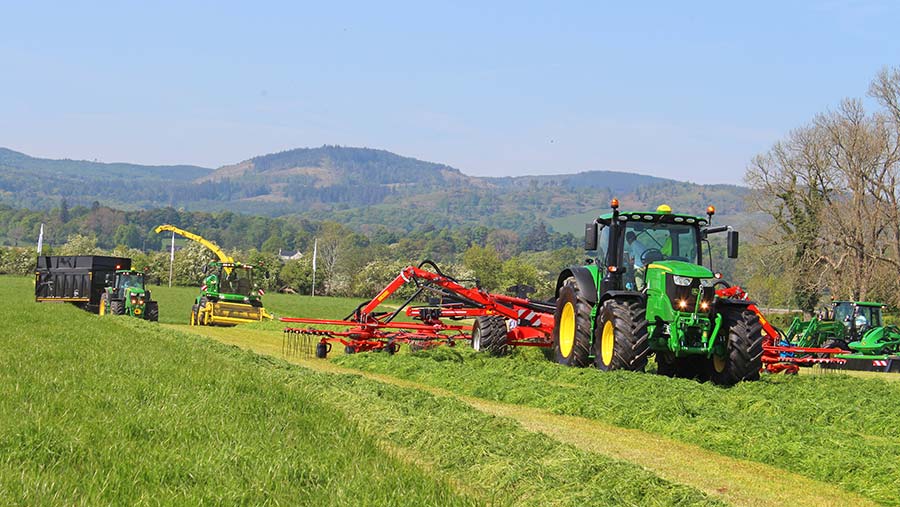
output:
[[557,363],[583,368],[591,350],[591,304],[575,277],[563,282],[553,314],[553,356]]

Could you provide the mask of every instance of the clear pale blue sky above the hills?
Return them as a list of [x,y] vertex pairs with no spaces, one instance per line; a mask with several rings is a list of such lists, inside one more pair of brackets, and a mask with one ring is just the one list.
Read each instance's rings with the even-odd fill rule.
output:
[[0,146],[216,167],[340,144],[737,183],[900,65],[900,2],[730,4],[4,2]]

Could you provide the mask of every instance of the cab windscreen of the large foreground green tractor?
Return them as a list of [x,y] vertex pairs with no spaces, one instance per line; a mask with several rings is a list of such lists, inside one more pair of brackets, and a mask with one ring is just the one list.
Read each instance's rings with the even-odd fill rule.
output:
[[632,222],[625,227],[625,253],[636,268],[677,260],[699,264],[697,228],[672,223]]

